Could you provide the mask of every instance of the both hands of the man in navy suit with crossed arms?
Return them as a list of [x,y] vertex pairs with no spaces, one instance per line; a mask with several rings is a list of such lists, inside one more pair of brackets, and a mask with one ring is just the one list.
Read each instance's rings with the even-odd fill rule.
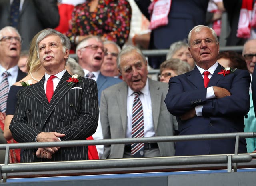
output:
[[[230,92],[226,89],[226,88],[221,88],[218,86],[214,86],[213,87],[213,91],[214,91],[214,95],[216,97],[216,99],[220,99],[220,98],[224,98],[226,96],[230,96]],[[191,110],[189,110],[188,112],[186,112],[185,114],[183,114],[182,116],[180,116],[181,120],[188,120],[190,118],[193,118],[196,116],[196,109],[193,108]]]

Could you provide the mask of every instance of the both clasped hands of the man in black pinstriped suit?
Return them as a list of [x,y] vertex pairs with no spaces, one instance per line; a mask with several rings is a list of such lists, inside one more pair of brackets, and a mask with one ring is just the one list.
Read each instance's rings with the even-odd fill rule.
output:
[[[60,134],[58,132],[41,132],[36,137],[37,142],[56,142],[61,141],[59,138],[64,137],[65,134]],[[36,151],[36,157],[38,158],[45,158],[45,159],[52,159],[52,154],[58,152],[60,147],[44,147],[38,148]]]

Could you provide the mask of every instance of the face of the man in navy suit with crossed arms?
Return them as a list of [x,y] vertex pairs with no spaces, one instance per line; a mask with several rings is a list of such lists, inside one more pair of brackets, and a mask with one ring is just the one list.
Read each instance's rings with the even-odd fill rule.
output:
[[209,67],[217,61],[219,44],[209,28],[201,28],[199,32],[192,32],[189,51],[198,66]]

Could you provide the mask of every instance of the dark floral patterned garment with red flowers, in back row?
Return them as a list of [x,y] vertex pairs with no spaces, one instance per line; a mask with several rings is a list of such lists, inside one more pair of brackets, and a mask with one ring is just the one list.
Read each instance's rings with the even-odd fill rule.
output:
[[90,12],[90,0],[78,4],[73,12],[66,36],[75,48],[76,36],[92,34],[104,37],[123,46],[129,36],[131,7],[126,0],[99,0],[94,12]]

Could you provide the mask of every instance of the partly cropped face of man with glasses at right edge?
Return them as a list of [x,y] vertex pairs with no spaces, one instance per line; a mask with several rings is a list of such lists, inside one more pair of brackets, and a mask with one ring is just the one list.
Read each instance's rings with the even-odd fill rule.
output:
[[254,66],[256,64],[256,56],[250,56],[248,54],[256,54],[256,40],[250,40],[244,45],[243,55],[248,71],[252,74]]

